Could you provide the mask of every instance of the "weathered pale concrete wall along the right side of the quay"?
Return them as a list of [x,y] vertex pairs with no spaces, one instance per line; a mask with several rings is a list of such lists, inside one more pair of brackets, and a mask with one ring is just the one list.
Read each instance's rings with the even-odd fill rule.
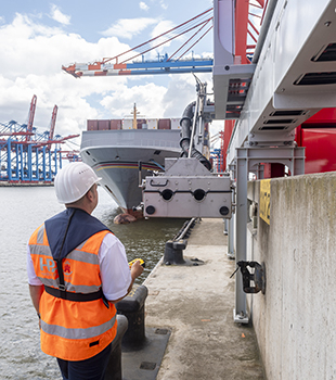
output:
[[336,173],[272,179],[270,207],[247,233],[266,264],[266,294],[247,299],[267,379],[336,379]]

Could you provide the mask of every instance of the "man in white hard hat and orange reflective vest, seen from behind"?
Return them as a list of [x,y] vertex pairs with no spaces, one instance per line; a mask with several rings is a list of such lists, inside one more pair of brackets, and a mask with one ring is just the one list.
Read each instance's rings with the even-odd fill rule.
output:
[[41,350],[57,358],[64,380],[103,380],[116,337],[115,303],[143,271],[129,269],[125,248],[91,213],[99,178],[85,163],[72,163],[55,177],[66,210],[31,235],[27,273],[40,318]]

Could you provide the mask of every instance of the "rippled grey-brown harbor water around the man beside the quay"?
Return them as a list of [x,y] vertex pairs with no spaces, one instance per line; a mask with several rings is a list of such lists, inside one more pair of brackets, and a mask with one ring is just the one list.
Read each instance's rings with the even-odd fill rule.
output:
[[[121,240],[128,261],[142,257],[143,282],[164,254],[165,243],[182,227],[183,219],[148,219],[115,225],[117,205],[99,188],[93,215]],[[61,379],[56,360],[40,351],[38,317],[31,305],[26,275],[26,244],[33,231],[64,210],[50,187],[0,188],[0,379]]]

